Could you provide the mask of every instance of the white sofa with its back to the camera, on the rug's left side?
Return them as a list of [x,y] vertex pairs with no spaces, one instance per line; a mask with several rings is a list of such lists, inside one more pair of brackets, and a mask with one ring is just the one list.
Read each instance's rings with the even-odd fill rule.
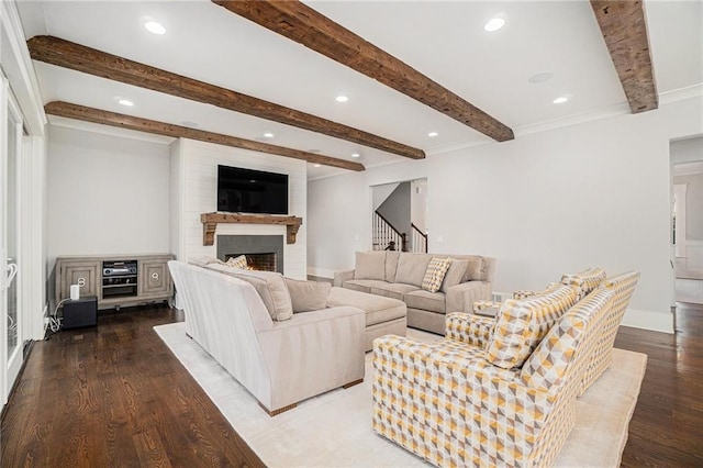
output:
[[168,267],[183,307],[188,335],[270,415],[364,380],[362,310],[336,307],[301,313],[271,311],[267,305],[276,308],[291,301],[278,274],[242,270],[235,277],[177,260],[169,261]]

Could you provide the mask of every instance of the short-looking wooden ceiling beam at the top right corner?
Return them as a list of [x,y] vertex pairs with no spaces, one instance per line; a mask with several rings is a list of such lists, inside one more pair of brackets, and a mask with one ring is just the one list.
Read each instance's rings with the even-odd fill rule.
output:
[[591,0],[632,113],[659,107],[641,1]]

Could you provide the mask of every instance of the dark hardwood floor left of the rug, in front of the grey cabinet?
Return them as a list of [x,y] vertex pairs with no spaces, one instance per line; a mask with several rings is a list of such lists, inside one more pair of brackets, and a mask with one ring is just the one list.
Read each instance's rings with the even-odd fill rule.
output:
[[5,408],[2,467],[264,466],[153,331],[161,308],[38,342]]

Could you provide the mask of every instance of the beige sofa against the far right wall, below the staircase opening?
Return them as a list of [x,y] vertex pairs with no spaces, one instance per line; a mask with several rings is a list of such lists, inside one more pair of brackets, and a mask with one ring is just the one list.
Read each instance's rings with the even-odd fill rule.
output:
[[[450,258],[439,290],[422,288],[433,258]],[[408,326],[444,335],[447,312],[471,312],[476,301],[491,298],[495,259],[476,255],[358,252],[355,269],[334,275],[334,286],[401,300]]]

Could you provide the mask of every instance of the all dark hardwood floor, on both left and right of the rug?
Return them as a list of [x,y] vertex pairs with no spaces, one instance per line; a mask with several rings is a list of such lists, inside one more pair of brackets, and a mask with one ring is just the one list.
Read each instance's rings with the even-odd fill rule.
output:
[[[648,355],[624,467],[703,466],[703,307],[674,335],[621,327]],[[34,345],[3,412],[2,467],[263,466],[152,330],[167,308],[101,314]]]

